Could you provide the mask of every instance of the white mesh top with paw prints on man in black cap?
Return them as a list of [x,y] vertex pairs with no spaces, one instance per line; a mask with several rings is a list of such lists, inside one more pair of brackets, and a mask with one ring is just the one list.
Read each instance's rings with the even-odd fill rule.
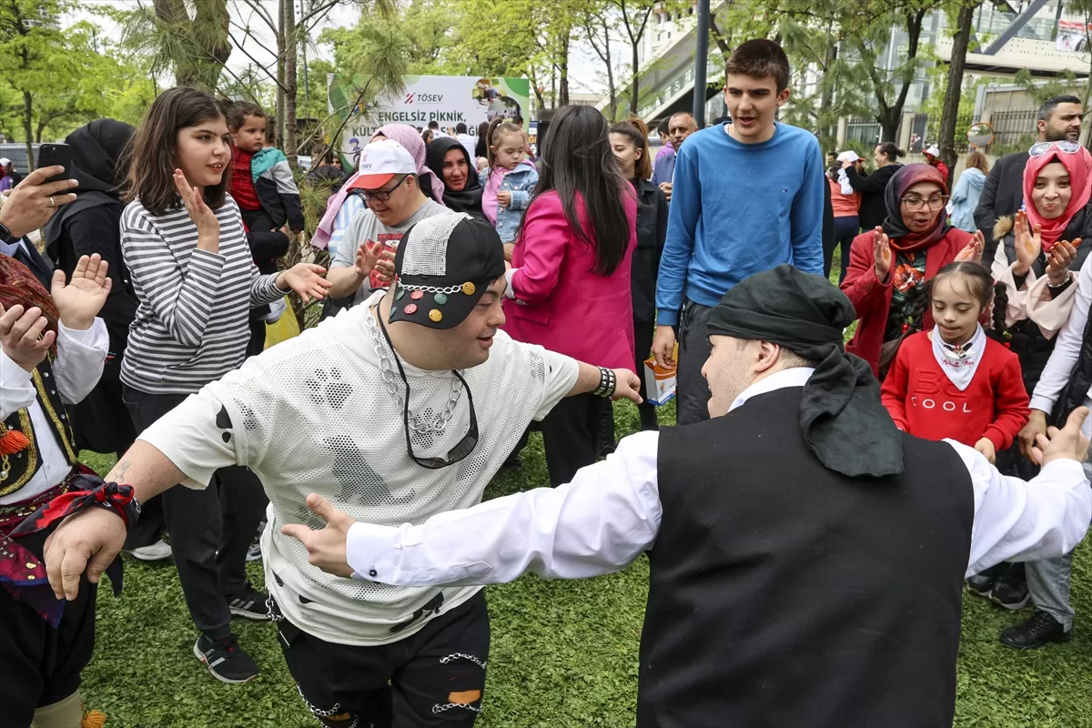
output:
[[[407,588],[323,573],[302,544],[280,533],[289,523],[324,525],[308,510],[308,493],[388,526],[474,505],[526,426],[572,389],[578,371],[568,357],[498,332],[488,361],[461,372],[474,396],[477,446],[456,465],[422,467],[406,453],[405,387],[393,360],[393,381],[382,374],[380,355],[391,353],[369,310],[381,296],[249,359],[140,438],[186,474],[183,485],[204,487],[229,463],[261,478],[270,498],[265,585],[289,621],[341,644],[401,640],[480,587]],[[450,371],[403,368],[414,454],[443,457],[468,428],[466,393]],[[437,431],[446,410],[450,419]]]

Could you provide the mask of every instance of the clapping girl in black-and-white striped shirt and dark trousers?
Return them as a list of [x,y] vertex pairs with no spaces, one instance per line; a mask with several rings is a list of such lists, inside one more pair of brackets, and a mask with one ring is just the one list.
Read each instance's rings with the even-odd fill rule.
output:
[[[242,363],[252,307],[292,291],[304,301],[321,299],[330,286],[325,270],[308,263],[259,273],[239,207],[226,192],[230,156],[219,108],[193,88],[161,94],[133,138],[121,250],[140,305],[121,381],[138,432]],[[265,497],[245,467],[224,468],[217,479],[219,489],[165,493],[163,511],[202,633],[193,653],[217,679],[247,682],[258,666],[236,644],[229,622],[233,614],[265,619],[265,595],[244,571]]]

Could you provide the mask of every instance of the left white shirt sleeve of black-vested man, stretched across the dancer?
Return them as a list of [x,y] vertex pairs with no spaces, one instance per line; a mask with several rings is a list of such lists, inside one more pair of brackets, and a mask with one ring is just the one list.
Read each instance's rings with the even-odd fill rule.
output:
[[432,516],[419,526],[354,524],[354,576],[400,586],[511,582],[524,572],[582,578],[625,569],[652,548],[662,510],[658,433],[625,438],[572,482]]

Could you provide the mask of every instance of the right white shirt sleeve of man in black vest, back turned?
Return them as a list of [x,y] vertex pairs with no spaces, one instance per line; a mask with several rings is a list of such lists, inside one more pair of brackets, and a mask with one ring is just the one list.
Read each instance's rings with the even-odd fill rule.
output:
[[974,525],[966,575],[1002,561],[1035,561],[1069,553],[1092,518],[1092,491],[1077,461],[1054,461],[1025,482],[1001,475],[983,455],[946,440],[974,484]]

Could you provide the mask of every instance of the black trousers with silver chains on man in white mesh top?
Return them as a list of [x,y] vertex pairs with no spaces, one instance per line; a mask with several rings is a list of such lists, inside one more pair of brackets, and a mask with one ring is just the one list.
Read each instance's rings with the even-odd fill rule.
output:
[[324,642],[280,617],[278,642],[307,707],[328,728],[458,728],[482,709],[489,657],[485,593],[397,642]]

